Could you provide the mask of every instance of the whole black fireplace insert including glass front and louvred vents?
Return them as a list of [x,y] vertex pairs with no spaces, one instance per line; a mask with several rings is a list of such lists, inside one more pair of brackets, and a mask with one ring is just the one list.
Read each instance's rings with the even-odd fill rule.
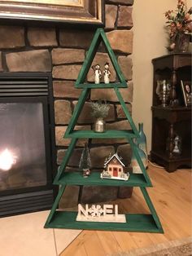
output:
[[1,73],[0,120],[0,216],[50,209],[56,168],[51,73]]

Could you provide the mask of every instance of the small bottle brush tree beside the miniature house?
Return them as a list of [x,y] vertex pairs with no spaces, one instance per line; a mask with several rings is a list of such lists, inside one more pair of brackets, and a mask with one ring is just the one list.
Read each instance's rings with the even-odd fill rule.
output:
[[91,160],[90,160],[90,153],[88,144],[85,143],[85,148],[83,149],[83,152],[81,154],[81,159],[79,163],[80,170],[83,171],[83,177],[88,177],[90,174],[90,168],[91,168]]

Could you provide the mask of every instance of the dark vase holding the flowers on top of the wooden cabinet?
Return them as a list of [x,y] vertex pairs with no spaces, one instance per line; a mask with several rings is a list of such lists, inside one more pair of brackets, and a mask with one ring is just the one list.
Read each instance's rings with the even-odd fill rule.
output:
[[190,34],[177,33],[174,52],[187,52],[190,45]]

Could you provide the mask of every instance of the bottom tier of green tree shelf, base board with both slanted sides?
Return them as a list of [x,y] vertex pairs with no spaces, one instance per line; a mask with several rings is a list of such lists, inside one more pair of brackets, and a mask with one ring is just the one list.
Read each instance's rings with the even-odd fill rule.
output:
[[68,229],[91,229],[91,230],[111,230],[129,232],[161,232],[163,228],[152,205],[151,199],[146,192],[146,188],[140,188],[142,196],[148,205],[151,214],[125,214],[126,223],[101,223],[76,221],[76,211],[57,210],[59,201],[63,196],[66,186],[61,186],[58,196],[46,220],[46,228],[68,228]]

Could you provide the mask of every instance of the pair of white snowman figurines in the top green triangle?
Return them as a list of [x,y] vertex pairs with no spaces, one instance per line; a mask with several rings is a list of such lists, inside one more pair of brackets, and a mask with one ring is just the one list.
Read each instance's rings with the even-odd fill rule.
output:
[[[105,69],[103,70],[104,83],[109,83],[110,82],[109,77],[111,76],[111,72],[109,70],[109,63],[106,62],[104,67],[105,67]],[[99,84],[100,79],[102,78],[102,70],[100,68],[100,65],[96,64],[92,66],[92,68],[94,69],[94,83]]]

